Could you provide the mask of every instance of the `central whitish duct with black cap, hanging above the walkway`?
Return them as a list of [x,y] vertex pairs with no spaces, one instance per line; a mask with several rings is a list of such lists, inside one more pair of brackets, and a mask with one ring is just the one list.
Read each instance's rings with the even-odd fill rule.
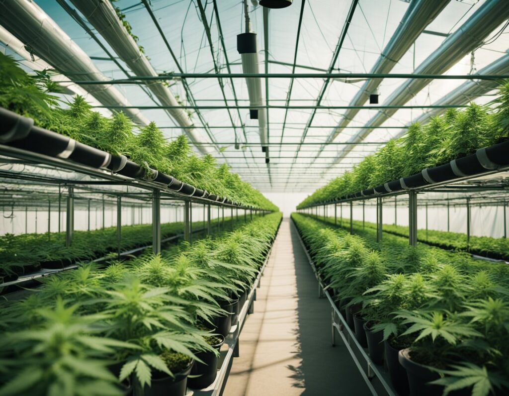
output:
[[[241,33],[237,35],[237,50],[242,60],[242,72],[260,73],[256,33]],[[259,107],[258,109],[249,109],[249,117],[251,119],[258,119],[262,151],[266,152],[268,149],[267,114],[265,108],[260,108],[263,106],[262,79],[261,77],[246,77],[246,84],[249,105]]]

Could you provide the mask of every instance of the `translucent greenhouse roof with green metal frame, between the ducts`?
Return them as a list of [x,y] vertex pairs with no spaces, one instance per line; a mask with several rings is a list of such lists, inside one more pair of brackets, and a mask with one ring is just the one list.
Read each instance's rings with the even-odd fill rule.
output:
[[[213,156],[219,163],[228,163],[234,172],[263,192],[310,193],[391,138],[404,134],[411,121],[427,119],[448,108],[465,107],[465,97],[458,96],[463,92],[463,88],[459,88],[462,83],[471,82],[469,86],[473,87],[486,82],[486,89],[477,90],[471,98],[485,103],[495,86],[492,82],[509,78],[507,70],[493,74],[482,72],[498,59],[500,52],[506,53],[509,48],[509,39],[501,34],[506,27],[505,5],[498,10],[501,16],[497,16],[497,23],[493,22],[492,26],[487,22],[486,38],[475,38],[479,41],[474,50],[475,59],[470,59],[469,53],[452,62],[449,70],[412,73],[419,71],[416,65],[444,41],[451,41],[453,36],[471,40],[462,27],[479,11],[478,15],[490,8],[486,0],[437,0],[442,8],[435,9],[436,15],[428,15],[428,20],[422,20],[415,27],[418,32],[412,35],[401,34],[403,28],[399,27],[403,27],[406,20],[414,20],[405,18],[410,18],[416,8],[426,7],[424,2],[382,0],[375,4],[373,0],[342,0],[330,9],[324,7],[326,5],[297,0],[294,7],[285,10],[249,5],[252,31],[263,33],[260,53],[264,59],[260,63],[263,63],[264,72],[257,74],[241,72],[234,45],[236,35],[244,30],[241,3],[213,0],[192,7],[190,2],[163,4],[160,0],[137,3],[120,0],[115,6],[126,15],[132,33],[139,36],[138,45],[145,47],[146,55],[159,74],[131,77],[126,77],[130,74],[129,67],[117,58],[101,32],[95,31],[79,12],[70,15],[74,10],[70,0],[59,0],[60,5],[47,0],[36,0],[36,3],[50,18],[59,21],[62,30],[108,76],[103,84],[117,87],[133,102],[131,106],[109,108],[150,114],[161,125],[167,139],[179,135],[186,127],[171,125],[162,114],[178,109],[191,110],[195,114],[192,128],[211,138],[207,144],[197,142],[195,148],[216,148]],[[380,18],[381,15],[384,18]],[[500,25],[498,22],[502,19],[504,22]],[[169,20],[173,24],[169,24]],[[344,23],[338,25],[337,20]],[[84,40],[83,32],[92,40]],[[386,48],[397,48],[398,55],[395,59],[389,57],[391,67],[378,67],[384,56],[388,57]],[[175,72],[168,71],[172,68]],[[477,69],[480,72],[476,73]],[[253,107],[247,102],[246,77],[260,77],[265,81],[263,105]],[[74,82],[83,87],[93,84],[78,78],[73,78]],[[217,81],[215,85],[210,78]],[[415,92],[405,104],[356,105],[355,98],[366,86],[381,84],[380,90],[386,91],[384,96],[389,96],[402,79],[431,80],[431,86]],[[140,89],[146,90],[145,85],[152,80],[171,80],[172,90],[185,95],[188,103],[175,107],[150,105],[150,95]],[[433,84],[434,81],[440,86]],[[135,92],[142,92],[146,97],[137,98]],[[449,92],[458,95],[455,100],[444,102]],[[96,108],[101,109],[101,106]],[[258,152],[258,123],[246,119],[247,110],[253,108],[267,110],[267,146],[271,151],[270,163],[266,165],[266,155]],[[380,114],[387,111],[391,116],[380,125],[371,125],[367,121],[376,111]],[[350,112],[355,113],[355,117],[348,120],[349,125],[343,125],[341,120],[348,118]],[[341,133],[331,135],[330,130],[338,125],[342,125]],[[353,139],[354,136],[365,138]]]

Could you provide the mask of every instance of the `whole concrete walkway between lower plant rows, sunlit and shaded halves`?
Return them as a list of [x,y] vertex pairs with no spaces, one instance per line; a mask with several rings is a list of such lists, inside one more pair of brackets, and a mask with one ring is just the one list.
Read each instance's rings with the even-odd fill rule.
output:
[[318,299],[317,281],[289,219],[279,229],[223,394],[371,394],[341,339],[331,347],[330,305]]

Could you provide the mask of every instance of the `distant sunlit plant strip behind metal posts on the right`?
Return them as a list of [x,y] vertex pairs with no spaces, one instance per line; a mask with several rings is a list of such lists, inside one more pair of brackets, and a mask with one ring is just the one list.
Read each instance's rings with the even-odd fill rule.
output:
[[[334,223],[333,217],[325,219],[330,223]],[[350,219],[337,218],[338,224],[343,224],[350,227]],[[355,229],[368,227],[376,229],[376,223],[354,220],[353,226]],[[384,224],[383,231],[394,235],[408,237],[408,227]],[[488,258],[509,260],[509,241],[506,238],[493,238],[491,236],[476,236],[470,235],[470,241],[467,246],[467,234],[463,232],[449,232],[440,230],[417,230],[417,241],[424,242],[429,245],[437,246],[443,249],[451,249],[458,251],[469,251],[470,253]]]

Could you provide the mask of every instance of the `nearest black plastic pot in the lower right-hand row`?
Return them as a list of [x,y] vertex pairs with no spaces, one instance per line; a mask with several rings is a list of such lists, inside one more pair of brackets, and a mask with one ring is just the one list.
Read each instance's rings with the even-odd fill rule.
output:
[[407,348],[401,350],[398,355],[400,364],[407,371],[410,394],[412,396],[441,396],[443,386],[429,384],[429,382],[440,378],[438,373],[431,371],[425,365],[414,362],[410,358],[410,353],[410,348]]

